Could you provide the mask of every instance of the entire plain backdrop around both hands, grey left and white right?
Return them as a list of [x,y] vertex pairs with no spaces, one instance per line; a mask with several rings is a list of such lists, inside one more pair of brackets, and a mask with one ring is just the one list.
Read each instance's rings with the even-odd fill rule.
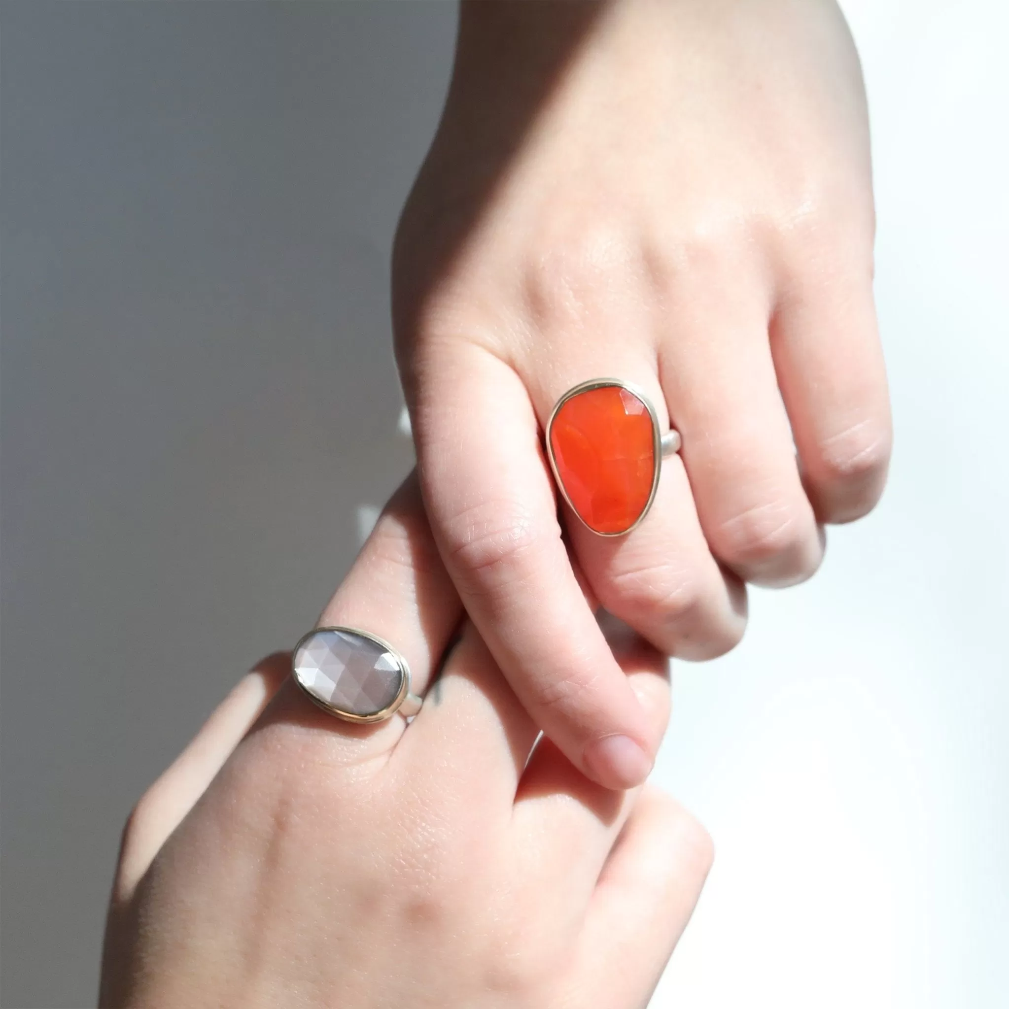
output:
[[[995,0],[851,0],[891,488],[676,667],[657,777],[718,857],[655,1005],[996,1009],[1009,967]],[[448,3],[4,3],[4,1007],[94,1000],[132,802],[315,618],[397,432],[387,253]],[[363,509],[363,510],[362,510]]]

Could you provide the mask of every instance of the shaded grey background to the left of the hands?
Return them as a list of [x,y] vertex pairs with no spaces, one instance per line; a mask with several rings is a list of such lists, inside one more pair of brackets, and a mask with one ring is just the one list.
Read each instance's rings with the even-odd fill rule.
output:
[[3,7],[5,1007],[93,1002],[125,813],[410,466],[388,249],[454,26]]

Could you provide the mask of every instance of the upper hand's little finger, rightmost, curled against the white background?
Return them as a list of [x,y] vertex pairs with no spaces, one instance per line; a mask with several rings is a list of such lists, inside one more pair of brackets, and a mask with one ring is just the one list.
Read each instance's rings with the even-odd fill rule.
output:
[[869,276],[794,285],[775,314],[771,349],[816,515],[862,518],[883,492],[892,441]]

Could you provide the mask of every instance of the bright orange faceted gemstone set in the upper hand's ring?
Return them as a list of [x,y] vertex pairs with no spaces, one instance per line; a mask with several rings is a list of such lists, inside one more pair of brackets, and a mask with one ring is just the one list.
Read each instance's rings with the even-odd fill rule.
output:
[[655,479],[652,415],[619,385],[577,393],[550,429],[557,475],[582,522],[596,533],[626,533]]

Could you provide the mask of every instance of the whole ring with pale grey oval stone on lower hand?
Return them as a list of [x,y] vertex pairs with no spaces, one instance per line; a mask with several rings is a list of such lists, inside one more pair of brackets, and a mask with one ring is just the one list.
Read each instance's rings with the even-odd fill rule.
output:
[[344,721],[411,718],[422,698],[411,692],[407,660],[383,638],[351,627],[315,628],[295,646],[295,682],[324,711]]

